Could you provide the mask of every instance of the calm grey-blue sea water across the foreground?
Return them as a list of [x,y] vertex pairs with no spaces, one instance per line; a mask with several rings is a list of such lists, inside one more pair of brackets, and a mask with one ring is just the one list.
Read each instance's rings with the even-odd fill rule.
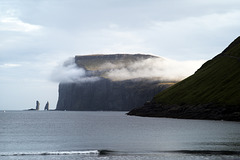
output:
[[0,111],[1,160],[240,159],[240,123],[125,112]]

